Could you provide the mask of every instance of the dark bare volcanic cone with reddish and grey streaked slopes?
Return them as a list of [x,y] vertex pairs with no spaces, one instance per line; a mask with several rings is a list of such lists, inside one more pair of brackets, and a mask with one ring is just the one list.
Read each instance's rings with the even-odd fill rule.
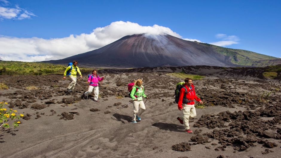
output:
[[73,60],[85,65],[111,67],[234,66],[213,47],[167,34],[125,36],[100,49],[47,62],[62,64]]

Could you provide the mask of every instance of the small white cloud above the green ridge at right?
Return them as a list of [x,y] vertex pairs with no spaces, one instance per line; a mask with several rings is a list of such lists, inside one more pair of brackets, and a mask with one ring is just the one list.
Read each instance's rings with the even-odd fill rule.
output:
[[238,41],[240,40],[239,37],[237,37],[237,36],[234,36],[234,35],[227,36],[226,34],[223,34],[223,33],[216,34],[216,38],[222,39],[223,41],[211,42],[209,44],[222,47],[222,46],[227,46],[227,45],[238,44]]

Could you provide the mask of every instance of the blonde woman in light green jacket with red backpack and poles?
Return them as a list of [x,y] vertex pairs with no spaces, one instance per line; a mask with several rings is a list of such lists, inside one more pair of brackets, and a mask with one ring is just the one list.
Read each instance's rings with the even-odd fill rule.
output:
[[[132,118],[133,123],[137,123],[136,120],[141,121],[140,115],[145,111],[143,97],[145,97],[146,99],[149,98],[144,94],[144,88],[141,85],[142,83],[143,81],[141,79],[137,79],[134,87],[132,88],[132,92],[130,94],[130,97],[134,100],[133,101],[134,112]],[[139,111],[139,107],[141,108],[140,111]]]

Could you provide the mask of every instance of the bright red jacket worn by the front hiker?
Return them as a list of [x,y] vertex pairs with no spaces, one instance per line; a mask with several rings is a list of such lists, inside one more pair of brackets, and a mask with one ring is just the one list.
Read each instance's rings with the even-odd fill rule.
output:
[[[186,84],[184,84],[185,88],[187,89],[187,93],[185,94],[186,98],[188,100],[196,100],[197,102],[199,102],[201,99],[198,98],[196,96],[196,93],[195,93],[195,89],[194,89],[194,85],[191,85],[191,89],[189,89],[189,87],[187,87]],[[184,93],[185,93],[185,89],[184,88],[181,88],[181,91],[180,91],[180,96],[179,96],[179,99],[178,99],[178,109],[181,109],[182,108],[182,99],[184,97]],[[188,105],[193,105],[194,104],[194,101],[192,102],[187,102],[185,104],[188,104]]]

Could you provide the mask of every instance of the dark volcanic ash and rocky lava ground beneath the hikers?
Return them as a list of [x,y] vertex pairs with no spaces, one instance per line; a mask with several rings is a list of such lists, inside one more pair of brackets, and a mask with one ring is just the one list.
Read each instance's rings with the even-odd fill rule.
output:
[[[210,66],[99,70],[100,102],[81,98],[85,76],[0,76],[9,86],[0,101],[23,113],[22,123],[0,135],[0,157],[227,157],[277,158],[281,154],[281,81],[265,79],[263,68]],[[205,108],[190,120],[193,134],[176,117],[174,89],[184,72],[205,76],[193,80]],[[143,79],[146,111],[131,123],[127,84]],[[30,86],[34,86],[29,90]],[[124,108],[118,110],[120,107]],[[116,111],[118,110],[118,111]],[[116,112],[114,112],[116,111]]]

